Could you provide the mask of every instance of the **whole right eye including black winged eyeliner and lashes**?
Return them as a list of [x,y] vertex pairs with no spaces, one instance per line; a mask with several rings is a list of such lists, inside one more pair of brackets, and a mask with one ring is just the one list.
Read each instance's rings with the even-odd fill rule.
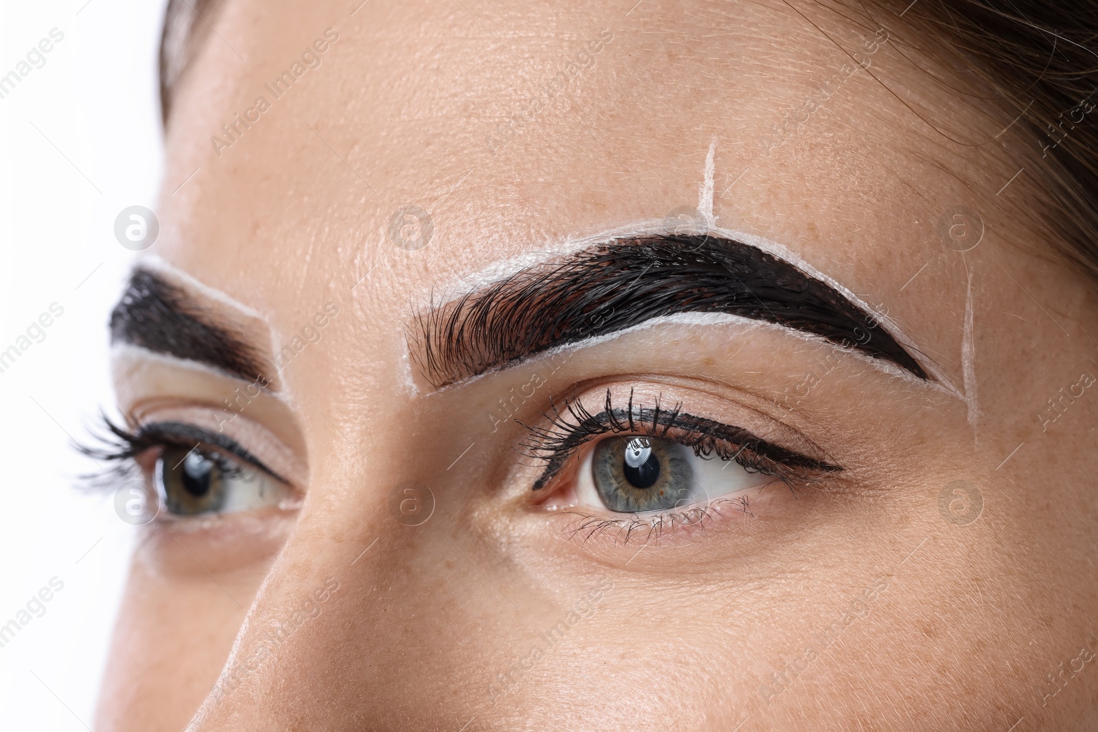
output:
[[[620,390],[618,394],[620,398]],[[666,518],[694,520],[697,509],[706,515],[724,496],[733,496],[746,511],[751,489],[775,483],[807,486],[842,471],[807,438],[759,413],[750,416],[741,410],[765,433],[778,436],[781,442],[804,443],[809,453],[743,427],[690,414],[682,403],[666,408],[656,396],[649,407],[635,398],[631,388],[627,394],[625,404],[616,406],[614,391],[607,388],[598,412],[582,399],[567,399],[563,408],[551,406],[552,414],[542,415],[548,426],[527,427],[527,454],[545,463],[531,487],[546,495],[536,503],[550,510],[602,509],[603,518],[612,520],[617,519],[605,516],[607,511],[636,515],[634,521],[666,523]],[[699,405],[706,404],[727,409],[702,397]]]

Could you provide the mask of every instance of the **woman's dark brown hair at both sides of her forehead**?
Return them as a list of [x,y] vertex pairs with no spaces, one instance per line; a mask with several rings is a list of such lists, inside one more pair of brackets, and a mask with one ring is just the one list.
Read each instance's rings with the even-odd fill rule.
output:
[[[844,0],[839,0],[843,2]],[[954,71],[937,78],[974,104],[1017,120],[1008,132],[1030,146],[1019,158],[1037,184],[1032,211],[1062,255],[1098,277],[1098,2],[1061,0],[845,0],[840,8],[889,31],[901,52],[920,52]],[[160,44],[165,125],[172,92],[211,32],[216,0],[169,0]],[[900,35],[899,29],[911,33]],[[965,79],[971,83],[963,83]],[[990,94],[988,94],[988,90]],[[996,140],[972,140],[990,144]],[[1040,162],[1034,166],[1033,160]],[[1028,161],[1028,162],[1027,162]]]

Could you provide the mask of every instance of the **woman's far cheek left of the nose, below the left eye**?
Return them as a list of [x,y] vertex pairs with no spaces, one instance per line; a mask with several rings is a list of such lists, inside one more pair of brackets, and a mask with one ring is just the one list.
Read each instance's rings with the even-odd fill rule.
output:
[[285,518],[268,519],[204,536],[161,531],[139,542],[111,641],[97,729],[187,727],[225,665],[288,528]]

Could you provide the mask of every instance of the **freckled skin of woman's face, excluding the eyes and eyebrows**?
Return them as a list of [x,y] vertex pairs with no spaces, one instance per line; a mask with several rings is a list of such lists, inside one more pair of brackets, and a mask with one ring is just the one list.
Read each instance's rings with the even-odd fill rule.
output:
[[[784,3],[630,4],[373,0],[351,16],[346,2],[229,0],[216,15],[177,93],[150,254],[260,313],[274,348],[325,303],[340,315],[280,374],[301,508],[148,527],[99,729],[1098,725],[1082,652],[1098,651],[1098,397],[1043,432],[1035,416],[1093,368],[1095,284],[1023,252],[1049,236],[1021,218],[1037,177],[996,196],[1039,148],[943,142],[889,89],[979,139],[1011,115],[874,45],[870,20],[794,3],[876,79],[842,71],[849,57]],[[329,27],[321,65],[219,157],[211,136]],[[869,293],[955,384],[973,272],[975,428],[955,396],[772,328],[629,334],[579,351],[515,419],[537,423],[576,383],[637,385],[844,470],[752,496],[750,514],[585,542],[531,505],[536,471],[515,451],[528,433],[493,429],[536,364],[416,394],[411,308],[493,262],[696,205],[714,142],[718,224]],[[964,255],[937,228],[959,203],[987,228]],[[410,205],[432,219],[422,248],[389,234]],[[123,408],[191,398],[156,384],[120,384]],[[407,481],[434,496],[419,526],[392,509]],[[978,514],[943,493],[957,481]],[[1054,684],[1060,663],[1083,668]]]

